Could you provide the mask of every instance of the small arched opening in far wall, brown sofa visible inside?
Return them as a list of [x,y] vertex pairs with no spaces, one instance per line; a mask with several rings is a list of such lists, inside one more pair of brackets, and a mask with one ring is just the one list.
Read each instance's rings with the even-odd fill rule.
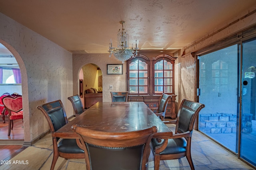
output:
[[81,70],[83,73],[82,84],[80,84],[83,89],[81,98],[84,108],[88,109],[95,103],[102,102],[102,71],[98,65],[92,63],[82,66]]

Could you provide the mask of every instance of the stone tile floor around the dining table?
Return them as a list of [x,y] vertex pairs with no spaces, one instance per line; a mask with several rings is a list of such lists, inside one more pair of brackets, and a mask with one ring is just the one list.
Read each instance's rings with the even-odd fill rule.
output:
[[[174,125],[168,126],[174,131]],[[254,170],[198,131],[193,132],[191,152],[196,170]],[[52,139],[48,134],[12,158],[10,164],[2,164],[0,170],[49,170],[52,153]],[[84,170],[86,166],[84,159],[58,158],[55,169]],[[150,154],[148,169],[154,170],[152,154]],[[190,170],[190,166],[186,158],[164,160],[160,161],[160,170]]]

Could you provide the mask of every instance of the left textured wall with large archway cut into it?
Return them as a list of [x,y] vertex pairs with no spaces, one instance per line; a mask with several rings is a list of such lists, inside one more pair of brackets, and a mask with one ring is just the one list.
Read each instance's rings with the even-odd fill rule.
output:
[[[24,141],[30,142],[49,129],[36,106],[72,96],[72,54],[38,33],[0,13],[0,43],[16,58],[22,75]],[[78,75],[78,72],[77,72]]]

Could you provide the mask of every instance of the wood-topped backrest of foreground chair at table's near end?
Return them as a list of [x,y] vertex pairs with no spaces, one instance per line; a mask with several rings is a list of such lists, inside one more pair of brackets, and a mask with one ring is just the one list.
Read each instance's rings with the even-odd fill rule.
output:
[[131,132],[103,132],[73,125],[85,150],[87,170],[145,170],[156,127]]

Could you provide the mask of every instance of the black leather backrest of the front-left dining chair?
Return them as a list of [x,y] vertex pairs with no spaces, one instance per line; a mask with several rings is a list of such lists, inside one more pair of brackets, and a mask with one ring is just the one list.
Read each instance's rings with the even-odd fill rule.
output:
[[51,132],[57,131],[68,123],[66,111],[61,100],[46,103],[41,106],[37,106],[37,108],[44,113],[44,116],[50,125]]

